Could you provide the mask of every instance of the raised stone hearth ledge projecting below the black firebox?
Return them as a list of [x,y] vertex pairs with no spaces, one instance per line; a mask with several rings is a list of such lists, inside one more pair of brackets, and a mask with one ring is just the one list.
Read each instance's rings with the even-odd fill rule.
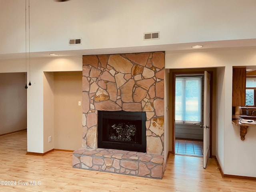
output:
[[164,156],[142,152],[80,148],[73,152],[73,168],[162,179]]

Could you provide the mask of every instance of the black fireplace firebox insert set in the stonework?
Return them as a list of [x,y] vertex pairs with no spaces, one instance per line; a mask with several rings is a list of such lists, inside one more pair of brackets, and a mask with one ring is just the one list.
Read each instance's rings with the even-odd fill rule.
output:
[[98,148],[146,152],[146,112],[98,111]]

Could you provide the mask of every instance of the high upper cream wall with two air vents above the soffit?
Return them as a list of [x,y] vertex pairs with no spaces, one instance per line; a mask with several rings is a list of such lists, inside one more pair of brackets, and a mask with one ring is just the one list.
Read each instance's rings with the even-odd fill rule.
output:
[[[0,5],[0,54],[25,52],[25,0]],[[255,0],[30,0],[30,51],[256,38],[255,7]],[[156,31],[160,40],[143,40]],[[82,45],[69,46],[69,38]]]

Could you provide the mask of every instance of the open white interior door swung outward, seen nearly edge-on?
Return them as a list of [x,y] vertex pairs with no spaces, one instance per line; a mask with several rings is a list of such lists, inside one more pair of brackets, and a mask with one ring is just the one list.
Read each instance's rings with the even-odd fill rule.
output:
[[210,74],[204,71],[204,168],[209,158],[210,148]]

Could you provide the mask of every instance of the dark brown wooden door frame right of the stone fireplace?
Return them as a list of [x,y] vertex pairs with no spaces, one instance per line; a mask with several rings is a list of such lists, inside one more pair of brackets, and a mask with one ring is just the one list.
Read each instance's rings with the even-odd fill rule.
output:
[[172,72],[172,154],[175,154],[175,75],[180,74],[204,74],[207,71],[210,74],[210,158],[212,158],[212,91],[213,91],[213,71],[206,68],[197,69],[183,69],[182,71]]

